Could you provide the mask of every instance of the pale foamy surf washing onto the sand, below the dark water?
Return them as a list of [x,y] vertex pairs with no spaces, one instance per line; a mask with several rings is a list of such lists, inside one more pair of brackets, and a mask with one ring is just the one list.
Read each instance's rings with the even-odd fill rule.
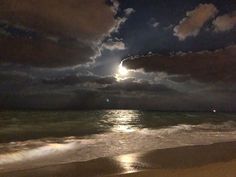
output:
[[[236,141],[236,123],[200,124],[107,132],[83,137],[2,144],[0,169],[12,170],[87,161],[99,157],[186,145]],[[3,148],[4,147],[4,148]]]

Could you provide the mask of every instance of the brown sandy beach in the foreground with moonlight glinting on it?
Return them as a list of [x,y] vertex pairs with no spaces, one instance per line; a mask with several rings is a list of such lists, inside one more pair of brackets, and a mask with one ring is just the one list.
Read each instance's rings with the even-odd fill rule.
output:
[[1,177],[235,177],[236,142],[186,146],[0,173]]

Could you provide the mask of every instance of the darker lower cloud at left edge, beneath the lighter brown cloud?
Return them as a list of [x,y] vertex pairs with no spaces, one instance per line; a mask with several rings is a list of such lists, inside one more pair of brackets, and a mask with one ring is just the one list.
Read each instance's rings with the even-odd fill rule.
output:
[[95,51],[87,44],[60,45],[46,39],[0,38],[0,62],[38,67],[63,67],[92,61]]

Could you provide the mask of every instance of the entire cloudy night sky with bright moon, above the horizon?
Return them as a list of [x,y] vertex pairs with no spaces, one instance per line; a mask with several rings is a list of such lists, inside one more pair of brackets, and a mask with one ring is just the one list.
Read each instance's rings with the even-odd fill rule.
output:
[[235,0],[1,0],[0,107],[236,111]]

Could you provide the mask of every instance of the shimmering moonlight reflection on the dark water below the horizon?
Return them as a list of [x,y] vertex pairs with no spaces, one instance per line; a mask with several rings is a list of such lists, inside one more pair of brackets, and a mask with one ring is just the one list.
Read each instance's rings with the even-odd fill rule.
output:
[[111,126],[114,132],[129,133],[138,129],[139,116],[139,111],[109,110],[104,115],[104,122]]

